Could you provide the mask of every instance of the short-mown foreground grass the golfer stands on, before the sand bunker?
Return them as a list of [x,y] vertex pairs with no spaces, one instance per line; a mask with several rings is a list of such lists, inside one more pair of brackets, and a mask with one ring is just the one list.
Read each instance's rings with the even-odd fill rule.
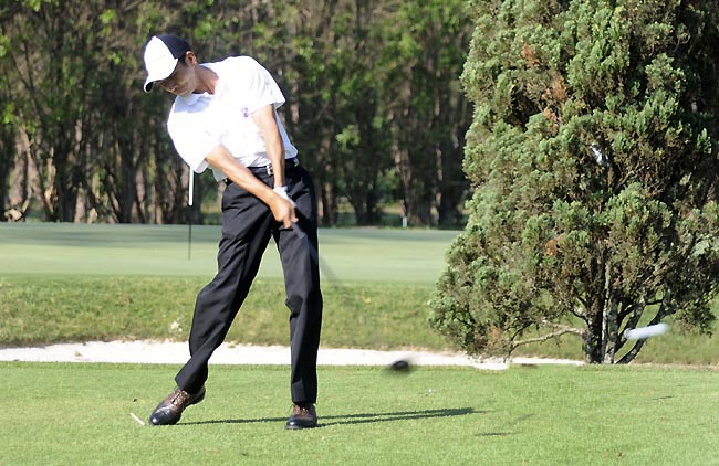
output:
[[[320,427],[286,432],[285,367],[213,366],[176,426],[142,426],[167,366],[0,363],[0,464],[705,465],[718,373],[322,367]],[[166,383],[167,382],[167,383]]]

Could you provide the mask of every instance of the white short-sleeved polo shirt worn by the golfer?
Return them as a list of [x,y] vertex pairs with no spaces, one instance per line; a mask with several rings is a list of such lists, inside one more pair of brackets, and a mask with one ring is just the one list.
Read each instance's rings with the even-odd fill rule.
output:
[[[233,56],[217,63],[205,63],[219,80],[215,94],[177,96],[167,119],[167,129],[175,149],[192,170],[207,169],[205,159],[218,145],[246,167],[270,165],[264,139],[251,115],[254,110],[274,105],[278,127],[284,144],[284,156],[296,157],[298,149],[290,142],[277,109],[284,96],[270,73],[254,59]],[[215,179],[225,173],[212,168]]]

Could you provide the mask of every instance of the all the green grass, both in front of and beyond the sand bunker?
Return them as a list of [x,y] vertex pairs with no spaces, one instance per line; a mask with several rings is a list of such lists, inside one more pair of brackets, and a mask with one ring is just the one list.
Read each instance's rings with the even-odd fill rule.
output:
[[[217,229],[0,225],[0,345],[185,340],[215,271]],[[454,234],[323,231],[323,346],[445,349],[426,301]],[[229,339],[285,345],[268,252]],[[716,364],[716,340],[673,331],[639,362]],[[534,351],[534,352],[532,352]],[[524,350],[581,357],[563,340]],[[649,357],[645,357],[649,354]],[[139,425],[173,388],[167,364],[0,362],[0,464],[712,464],[716,366],[507,371],[321,367],[320,427],[286,432],[289,368],[212,366],[208,396],[170,427]]]

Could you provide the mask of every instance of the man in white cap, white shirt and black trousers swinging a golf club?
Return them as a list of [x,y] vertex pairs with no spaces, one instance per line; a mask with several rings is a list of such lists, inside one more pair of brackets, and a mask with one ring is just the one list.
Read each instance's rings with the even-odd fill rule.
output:
[[286,428],[314,427],[322,326],[316,198],[277,113],[284,97],[253,59],[200,64],[190,45],[171,34],[149,40],[145,67],[145,92],[157,84],[176,95],[167,128],[177,152],[190,169],[200,173],[210,167],[226,184],[218,272],[197,296],[190,359],[149,422],[175,424],[205,398],[208,360],[225,340],[272,236],[290,309],[293,410]]

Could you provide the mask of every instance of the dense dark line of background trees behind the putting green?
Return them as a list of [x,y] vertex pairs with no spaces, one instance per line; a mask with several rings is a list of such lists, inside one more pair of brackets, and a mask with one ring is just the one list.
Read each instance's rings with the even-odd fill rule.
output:
[[[171,97],[142,91],[146,41],[173,32],[204,61],[252,55],[278,80],[323,224],[343,203],[359,225],[388,203],[411,225],[461,222],[463,1],[4,1],[0,28],[3,220],[186,220]],[[196,190],[197,213],[217,186],[200,176]]]

